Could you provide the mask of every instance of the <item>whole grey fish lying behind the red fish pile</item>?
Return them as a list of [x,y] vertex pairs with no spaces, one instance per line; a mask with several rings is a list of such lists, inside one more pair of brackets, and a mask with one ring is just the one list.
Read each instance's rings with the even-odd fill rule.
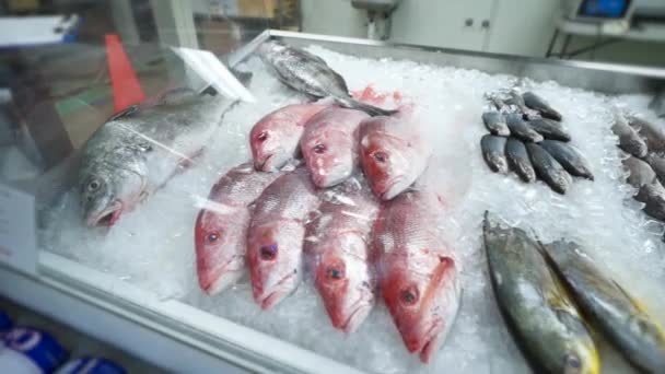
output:
[[332,97],[341,106],[362,110],[371,116],[389,116],[397,113],[355,101],[349,94],[345,79],[320,57],[304,49],[270,40],[259,47],[259,54],[277,72],[282,83],[307,96]]

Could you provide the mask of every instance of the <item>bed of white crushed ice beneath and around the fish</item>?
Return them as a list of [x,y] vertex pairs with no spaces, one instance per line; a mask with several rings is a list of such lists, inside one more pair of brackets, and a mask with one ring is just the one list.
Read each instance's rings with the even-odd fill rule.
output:
[[[255,104],[241,104],[224,117],[224,125],[196,164],[174,177],[135,212],[126,213],[106,232],[81,226],[73,197],[42,235],[51,252],[140,285],[160,297],[180,299],[209,313],[279,337],[351,366],[375,373],[521,373],[528,372],[498,313],[481,246],[485,210],[511,225],[533,230],[540,239],[568,237],[584,243],[603,267],[665,323],[665,245],[663,225],[650,220],[630,199],[634,192],[622,180],[622,155],[610,131],[609,103],[645,114],[644,95],[607,97],[510,75],[435,67],[411,61],[363,59],[312,46],[340,72],[349,87],[373,85],[377,92],[399,92],[415,103],[431,140],[434,157],[427,183],[434,184],[450,202],[445,227],[448,243],[463,265],[463,301],[447,342],[434,361],[422,365],[408,354],[381,303],[350,336],[334,329],[318,295],[308,283],[269,312],[252,300],[247,277],[233,289],[210,297],[198,290],[194,265],[194,221],[212,184],[229,168],[249,159],[247,133],[265,114],[302,101],[270,77],[258,59],[241,69],[254,72]],[[479,150],[486,133],[480,116],[483,94],[521,82],[546,98],[564,117],[564,126],[588,159],[595,182],[575,178],[565,196],[545,184],[526,185],[514,175],[491,173]],[[506,343],[508,342],[508,343]],[[626,370],[609,357],[607,372]],[[614,366],[614,367],[612,367]]]

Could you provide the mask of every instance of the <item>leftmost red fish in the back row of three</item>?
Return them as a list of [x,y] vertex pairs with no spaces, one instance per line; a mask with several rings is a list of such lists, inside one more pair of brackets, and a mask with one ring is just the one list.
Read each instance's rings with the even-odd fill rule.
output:
[[275,172],[295,157],[306,122],[327,107],[319,104],[288,105],[256,122],[249,132],[254,167]]

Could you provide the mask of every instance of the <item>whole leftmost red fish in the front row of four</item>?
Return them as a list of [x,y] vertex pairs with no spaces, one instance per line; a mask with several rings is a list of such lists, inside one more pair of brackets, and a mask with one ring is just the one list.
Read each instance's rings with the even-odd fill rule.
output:
[[197,274],[206,293],[219,293],[245,272],[252,203],[279,175],[256,172],[245,163],[212,186],[194,229]]

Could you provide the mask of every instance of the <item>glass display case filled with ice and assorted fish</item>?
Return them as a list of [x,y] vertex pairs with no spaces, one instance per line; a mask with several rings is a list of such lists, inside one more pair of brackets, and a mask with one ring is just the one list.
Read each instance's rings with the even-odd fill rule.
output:
[[[663,367],[665,70],[304,34],[298,1],[77,7],[70,39],[0,50],[0,183],[38,250],[1,279],[238,371]],[[584,292],[618,291],[567,250],[649,358],[591,338],[614,317]]]

